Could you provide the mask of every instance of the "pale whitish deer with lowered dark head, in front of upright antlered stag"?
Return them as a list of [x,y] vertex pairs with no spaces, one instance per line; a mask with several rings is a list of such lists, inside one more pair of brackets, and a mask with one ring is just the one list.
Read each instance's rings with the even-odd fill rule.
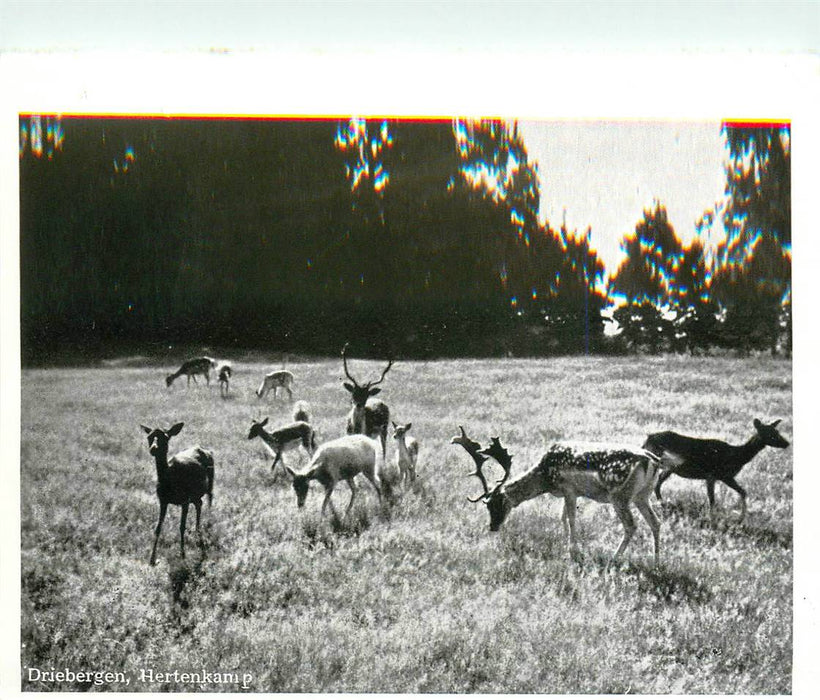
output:
[[313,480],[318,481],[325,489],[325,500],[322,503],[322,514],[330,504],[330,510],[336,515],[330,495],[336,483],[344,479],[350,487],[350,502],[345,510],[345,518],[353,507],[356,498],[357,474],[364,474],[376,489],[379,503],[382,500],[381,472],[384,467],[384,458],[380,454],[379,445],[366,435],[345,435],[324,443],[313,455],[308,468],[298,474],[290,467],[285,466],[288,474],[293,477],[293,490],[296,491],[296,505],[303,508],[307,498],[308,487]]

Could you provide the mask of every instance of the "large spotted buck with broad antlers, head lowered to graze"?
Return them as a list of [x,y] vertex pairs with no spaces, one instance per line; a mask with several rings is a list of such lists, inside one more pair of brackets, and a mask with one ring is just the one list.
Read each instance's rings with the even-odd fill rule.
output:
[[[660,565],[660,521],[649,505],[649,496],[658,478],[658,461],[639,447],[605,443],[557,442],[547,449],[541,460],[529,471],[507,481],[512,467],[512,455],[498,438],[491,438],[485,449],[461,435],[450,441],[461,445],[475,462],[470,476],[478,477],[484,493],[468,498],[471,503],[483,501],[490,511],[490,530],[501,527],[509,512],[517,505],[542,493],[564,499],[561,520],[569,536],[570,552],[576,551],[575,500],[579,496],[599,503],[610,503],[624,527],[624,536],[612,556],[615,561],[626,549],[635,533],[631,504],[640,511],[655,542],[655,566]],[[490,489],[482,465],[492,457],[504,470],[504,476]]]

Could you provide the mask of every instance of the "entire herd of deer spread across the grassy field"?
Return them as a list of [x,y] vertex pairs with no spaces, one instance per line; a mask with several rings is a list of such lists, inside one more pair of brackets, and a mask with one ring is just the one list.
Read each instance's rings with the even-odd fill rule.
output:
[[[296,502],[302,508],[307,498],[311,481],[317,481],[325,490],[322,514],[328,505],[337,515],[331,501],[336,484],[346,481],[350,487],[350,501],[345,517],[350,513],[356,498],[355,478],[362,474],[373,486],[381,503],[382,497],[392,500],[397,486],[407,485],[416,478],[416,463],[419,445],[407,433],[412,424],[393,425],[393,437],[397,450],[395,461],[388,461],[387,430],[390,410],[384,401],[374,398],[381,389],[379,384],[393,366],[387,366],[376,381],[359,384],[347,367],[347,346],[342,349],[342,363],[345,376],[344,388],[350,393],[352,407],[347,415],[347,434],[329,440],[317,447],[316,433],[310,422],[307,405],[299,401],[295,405],[293,422],[273,431],[267,431],[268,419],[252,421],[248,439],[261,438],[274,456],[271,469],[282,461],[282,453],[301,445],[310,457],[310,464],[302,472],[295,472],[283,462],[283,468],[290,475],[296,492]],[[203,374],[210,381],[211,369],[217,369],[220,388],[224,396],[228,391],[231,367],[228,363],[219,365],[208,357],[185,362],[179,370],[168,375],[166,384],[171,386],[174,379],[183,374],[196,382],[196,375]],[[271,389],[282,388],[293,397],[293,374],[278,370],[266,375],[256,391],[260,398]],[[575,532],[575,502],[585,497],[599,503],[609,503],[615,510],[624,529],[623,538],[612,556],[616,560],[629,545],[636,526],[631,507],[634,504],[652,531],[655,566],[660,565],[660,520],[649,503],[654,492],[661,500],[661,485],[673,474],[706,482],[710,514],[715,514],[715,484],[720,481],[740,496],[742,522],[746,516],[746,491],[735,480],[740,470],[764,447],[785,448],[789,442],[778,432],[779,420],[765,424],[754,420],[755,432],[742,445],[730,445],[721,440],[692,438],[672,431],[649,435],[643,446],[613,443],[556,442],[547,448],[538,463],[530,470],[510,479],[512,455],[497,437],[490,439],[487,447],[472,440],[463,427],[460,434],[451,439],[451,444],[460,445],[472,458],[475,476],[481,483],[483,493],[470,502],[482,501],[490,513],[490,530],[497,531],[509,512],[517,505],[544,493],[564,499],[562,523],[569,540],[570,553],[577,553]],[[157,467],[157,496],[159,498],[159,523],[154,533],[151,550],[151,564],[156,562],[157,541],[168,504],[181,506],[180,549],[185,556],[185,523],[189,505],[196,509],[196,527],[199,532],[202,498],[207,495],[209,502],[214,483],[214,459],[210,451],[192,447],[168,459],[168,442],[178,434],[183,423],[177,423],[169,430],[141,426],[148,434],[151,455]],[[490,486],[488,476],[483,471],[487,460],[492,459],[503,471],[503,476]]]

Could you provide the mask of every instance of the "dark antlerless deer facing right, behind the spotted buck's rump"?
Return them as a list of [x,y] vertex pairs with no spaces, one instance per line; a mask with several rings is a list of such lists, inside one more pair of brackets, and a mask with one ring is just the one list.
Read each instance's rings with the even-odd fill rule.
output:
[[729,445],[722,440],[704,440],[671,431],[652,433],[643,446],[661,460],[662,473],[655,486],[661,500],[661,485],[672,474],[685,479],[706,481],[709,513],[715,515],[715,482],[722,481],[740,495],[740,521],[746,517],[746,490],[735,481],[741,469],[764,447],[786,448],[789,441],[778,431],[780,420],[766,425],[754,419],[755,434],[743,445]]

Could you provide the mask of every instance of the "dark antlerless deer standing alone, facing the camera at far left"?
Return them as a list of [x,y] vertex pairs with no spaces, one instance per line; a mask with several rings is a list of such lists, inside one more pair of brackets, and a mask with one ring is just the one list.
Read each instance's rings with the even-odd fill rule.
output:
[[168,443],[177,435],[184,423],[177,423],[168,430],[140,427],[148,434],[148,450],[157,464],[157,497],[159,498],[159,523],[154,531],[154,546],[151,549],[151,566],[157,563],[157,542],[165,520],[168,504],[182,508],[179,519],[179,547],[185,558],[185,521],[188,506],[196,508],[196,531],[199,533],[199,519],[202,512],[202,497],[208,496],[208,505],[213,500],[214,456],[201,447],[190,447],[177,452],[168,459]]

